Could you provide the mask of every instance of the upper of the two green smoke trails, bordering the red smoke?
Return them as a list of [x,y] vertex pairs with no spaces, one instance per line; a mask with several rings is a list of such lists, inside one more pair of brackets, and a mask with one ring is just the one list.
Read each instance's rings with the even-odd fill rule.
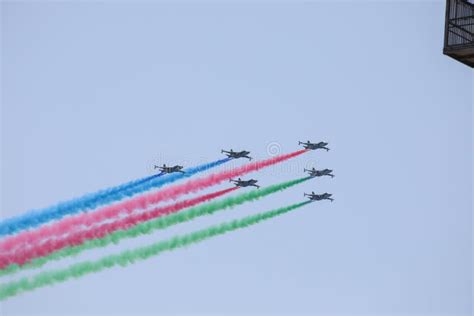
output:
[[120,240],[125,238],[133,238],[140,235],[150,234],[157,229],[164,229],[171,225],[187,222],[198,216],[211,215],[219,210],[231,208],[242,203],[253,201],[269,194],[288,189],[308,179],[311,179],[311,177],[304,177],[296,180],[282,182],[262,189],[256,189],[236,196],[228,197],[219,201],[192,207],[182,212],[158,217],[157,219],[138,224],[127,230],[118,230],[102,238],[88,240],[82,245],[63,248],[48,256],[36,258],[30,263],[27,263],[23,266],[19,266],[17,264],[10,265],[5,269],[0,270],[0,276],[13,274],[26,269],[39,268],[47,262],[53,260],[60,260],[65,257],[75,256],[85,250],[105,247],[112,243],[117,244]]

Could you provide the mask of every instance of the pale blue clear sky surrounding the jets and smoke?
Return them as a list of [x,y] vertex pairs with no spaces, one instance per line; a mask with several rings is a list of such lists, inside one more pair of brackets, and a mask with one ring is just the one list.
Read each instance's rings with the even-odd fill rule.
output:
[[474,76],[442,54],[443,2],[1,7],[1,218],[221,149],[263,159],[326,140],[329,152],[249,177],[271,185],[312,166],[336,175],[48,265],[304,192],[336,199],[19,295],[2,315],[471,314]]

